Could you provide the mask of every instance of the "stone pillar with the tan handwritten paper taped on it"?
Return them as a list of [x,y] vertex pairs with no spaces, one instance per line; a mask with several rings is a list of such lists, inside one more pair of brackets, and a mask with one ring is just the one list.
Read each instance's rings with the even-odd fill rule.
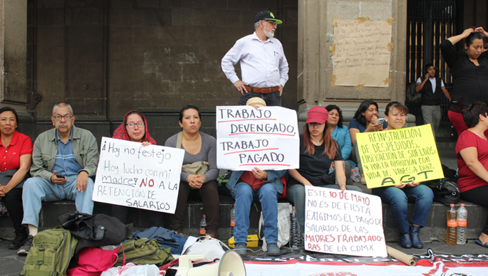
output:
[[[392,100],[405,102],[405,57],[407,3],[401,0],[299,0],[298,1],[298,103],[299,120],[316,105],[335,104],[350,121],[359,103],[378,102],[380,114]],[[391,21],[391,51],[388,87],[338,86],[333,75],[334,25],[337,19],[369,18]],[[410,117],[410,115],[409,115]],[[409,122],[411,119],[409,118]],[[414,121],[415,122],[415,121]]]

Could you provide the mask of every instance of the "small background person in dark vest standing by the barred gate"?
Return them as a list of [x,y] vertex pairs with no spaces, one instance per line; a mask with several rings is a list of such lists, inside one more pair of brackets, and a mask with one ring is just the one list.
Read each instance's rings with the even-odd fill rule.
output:
[[432,63],[425,65],[425,77],[417,79],[415,92],[422,93],[422,118],[424,124],[430,124],[430,127],[432,127],[432,133],[435,139],[435,132],[437,132],[440,124],[442,93],[444,93],[449,101],[451,101],[451,96],[444,82],[437,77],[437,68]]

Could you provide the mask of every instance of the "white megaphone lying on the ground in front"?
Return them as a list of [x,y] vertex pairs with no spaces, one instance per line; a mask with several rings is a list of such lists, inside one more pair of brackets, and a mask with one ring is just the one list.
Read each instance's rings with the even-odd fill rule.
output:
[[207,255],[181,255],[175,276],[246,276],[246,267],[239,254],[228,250],[219,262],[193,267],[192,260],[206,258]]

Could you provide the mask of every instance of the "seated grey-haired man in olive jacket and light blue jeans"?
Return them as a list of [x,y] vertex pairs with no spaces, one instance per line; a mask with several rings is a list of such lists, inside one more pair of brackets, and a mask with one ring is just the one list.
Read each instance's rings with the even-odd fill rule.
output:
[[24,183],[24,219],[28,239],[17,254],[27,255],[37,234],[42,201],[76,201],[76,210],[93,213],[93,179],[98,165],[95,137],[75,127],[73,108],[66,102],[53,107],[55,128],[39,134],[34,142],[31,177]]

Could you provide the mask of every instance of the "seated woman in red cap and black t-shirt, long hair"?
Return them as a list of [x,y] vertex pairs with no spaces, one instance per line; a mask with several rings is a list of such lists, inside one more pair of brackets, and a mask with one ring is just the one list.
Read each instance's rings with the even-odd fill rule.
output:
[[[341,147],[326,130],[327,120],[328,111],[324,107],[308,110],[300,135],[300,169],[288,170],[292,179],[288,182],[286,198],[295,205],[301,233],[305,230],[305,186],[361,191],[358,186],[346,185]],[[336,169],[329,172],[332,163]]]

